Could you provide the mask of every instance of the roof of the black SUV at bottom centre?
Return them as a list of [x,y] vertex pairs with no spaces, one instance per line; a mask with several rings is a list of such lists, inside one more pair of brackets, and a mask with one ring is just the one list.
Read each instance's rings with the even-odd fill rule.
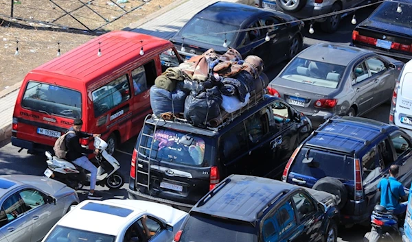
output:
[[232,175],[203,197],[190,213],[254,223],[266,208],[296,186],[279,180]]

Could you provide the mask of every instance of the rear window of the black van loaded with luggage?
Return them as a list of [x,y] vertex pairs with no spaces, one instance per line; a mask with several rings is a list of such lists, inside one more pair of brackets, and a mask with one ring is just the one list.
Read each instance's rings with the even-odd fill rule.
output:
[[[153,134],[153,125],[146,125],[146,130]],[[152,138],[143,136],[141,146],[150,147]],[[138,144],[137,144],[138,145]],[[150,154],[149,149],[139,149],[139,156],[147,158]],[[163,130],[157,128],[155,142],[152,144],[151,158],[161,162],[172,162],[183,165],[201,166],[203,165],[205,152],[209,149],[205,140],[194,134],[177,132],[175,130]]]

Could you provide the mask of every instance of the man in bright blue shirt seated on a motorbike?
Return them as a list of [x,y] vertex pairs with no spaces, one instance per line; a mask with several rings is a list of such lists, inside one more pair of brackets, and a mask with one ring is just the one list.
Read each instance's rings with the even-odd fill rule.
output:
[[404,191],[404,187],[396,177],[399,173],[398,165],[391,165],[389,167],[389,178],[383,178],[378,184],[380,189],[380,205],[387,210],[391,210],[394,215],[401,215],[407,210],[407,203],[400,203],[399,200],[408,200],[408,196]]

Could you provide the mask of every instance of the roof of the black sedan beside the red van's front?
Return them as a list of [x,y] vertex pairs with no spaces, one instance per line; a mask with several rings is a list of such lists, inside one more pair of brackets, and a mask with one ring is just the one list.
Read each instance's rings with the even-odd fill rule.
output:
[[247,19],[254,19],[266,11],[251,5],[218,1],[195,15],[197,18],[240,26]]

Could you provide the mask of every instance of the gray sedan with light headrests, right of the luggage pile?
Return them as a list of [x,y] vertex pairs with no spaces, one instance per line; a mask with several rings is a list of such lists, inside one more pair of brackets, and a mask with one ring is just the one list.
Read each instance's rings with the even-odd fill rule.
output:
[[321,43],[301,51],[268,85],[314,127],[328,117],[361,116],[390,101],[403,63],[372,51]]

